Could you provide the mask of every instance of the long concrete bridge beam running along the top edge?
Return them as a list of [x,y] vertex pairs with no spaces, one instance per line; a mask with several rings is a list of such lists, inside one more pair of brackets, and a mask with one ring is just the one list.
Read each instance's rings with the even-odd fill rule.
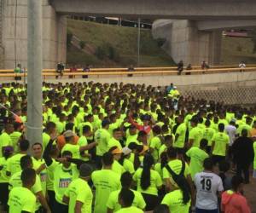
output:
[[254,0],[50,0],[60,14],[182,20],[256,20]]

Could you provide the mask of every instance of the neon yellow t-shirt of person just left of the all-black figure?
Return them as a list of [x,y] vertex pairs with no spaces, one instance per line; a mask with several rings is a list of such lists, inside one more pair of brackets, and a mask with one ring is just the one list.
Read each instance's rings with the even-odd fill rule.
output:
[[230,137],[224,132],[216,133],[212,141],[215,142],[215,145],[212,150],[212,154],[225,156],[226,155],[226,146],[230,144]]

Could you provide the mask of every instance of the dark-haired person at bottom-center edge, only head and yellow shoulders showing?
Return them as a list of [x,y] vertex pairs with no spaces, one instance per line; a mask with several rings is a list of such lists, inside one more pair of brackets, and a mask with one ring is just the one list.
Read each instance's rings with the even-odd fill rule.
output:
[[119,193],[119,204],[122,206],[122,208],[116,211],[116,213],[143,213],[143,210],[132,206],[134,197],[134,193],[130,189],[122,188]]

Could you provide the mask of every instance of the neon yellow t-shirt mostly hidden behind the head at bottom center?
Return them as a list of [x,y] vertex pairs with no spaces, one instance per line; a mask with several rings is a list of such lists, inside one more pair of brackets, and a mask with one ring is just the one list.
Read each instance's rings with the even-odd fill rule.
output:
[[[146,206],[146,203],[143,199],[143,195],[135,190],[131,190],[134,193],[134,199],[132,202],[132,206],[135,206],[141,210],[143,210]],[[108,197],[107,207],[113,212],[116,212],[121,209],[121,205],[119,204],[119,193],[120,190],[114,191],[110,193]]]

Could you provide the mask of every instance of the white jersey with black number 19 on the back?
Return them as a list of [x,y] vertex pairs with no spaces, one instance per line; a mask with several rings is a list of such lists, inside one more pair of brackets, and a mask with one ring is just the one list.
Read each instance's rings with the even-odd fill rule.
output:
[[196,203],[201,210],[218,209],[218,192],[224,190],[222,180],[212,172],[200,172],[195,175]]

